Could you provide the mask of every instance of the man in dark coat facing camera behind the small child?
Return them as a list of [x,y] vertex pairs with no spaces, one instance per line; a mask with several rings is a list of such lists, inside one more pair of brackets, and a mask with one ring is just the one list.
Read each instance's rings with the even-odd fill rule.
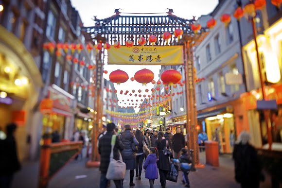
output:
[[181,134],[180,127],[176,128],[176,134],[172,137],[173,157],[179,158],[180,151],[185,147],[185,137]]

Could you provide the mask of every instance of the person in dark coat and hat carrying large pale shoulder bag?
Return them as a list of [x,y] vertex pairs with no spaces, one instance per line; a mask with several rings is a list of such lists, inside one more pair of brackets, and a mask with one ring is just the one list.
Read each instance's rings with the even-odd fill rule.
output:
[[[106,188],[108,184],[108,179],[106,179],[106,173],[110,162],[110,154],[111,154],[111,140],[113,136],[113,131],[116,125],[114,123],[108,123],[106,126],[107,132],[106,134],[100,138],[98,151],[101,155],[100,160],[100,171],[101,171],[101,179],[100,179],[100,188]],[[119,137],[116,137],[116,143],[114,146],[114,159],[120,159],[120,151],[123,151],[123,143],[120,141]],[[123,180],[114,180],[116,188],[123,188],[122,184]]]

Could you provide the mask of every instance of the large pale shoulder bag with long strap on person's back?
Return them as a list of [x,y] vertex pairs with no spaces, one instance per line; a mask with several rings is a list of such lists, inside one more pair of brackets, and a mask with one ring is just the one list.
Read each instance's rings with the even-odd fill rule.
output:
[[106,173],[106,179],[108,180],[122,180],[124,179],[126,164],[123,162],[123,157],[120,154],[120,160],[114,159],[114,146],[116,143],[116,135],[112,136],[111,139],[111,154],[110,154],[110,163]]

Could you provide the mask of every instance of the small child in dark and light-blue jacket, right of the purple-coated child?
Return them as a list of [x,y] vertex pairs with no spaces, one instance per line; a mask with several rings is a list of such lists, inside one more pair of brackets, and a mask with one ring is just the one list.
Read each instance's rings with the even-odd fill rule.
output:
[[189,179],[188,179],[188,174],[190,172],[191,165],[192,165],[192,157],[188,153],[187,149],[182,148],[181,149],[181,156],[179,157],[179,159],[174,159],[173,162],[180,163],[180,169],[183,173],[182,183],[186,184],[185,185],[186,188],[190,188],[190,182],[189,182]]

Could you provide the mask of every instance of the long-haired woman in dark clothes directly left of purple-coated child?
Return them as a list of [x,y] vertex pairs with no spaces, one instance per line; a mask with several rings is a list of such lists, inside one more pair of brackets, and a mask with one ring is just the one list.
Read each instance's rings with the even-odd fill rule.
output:
[[136,177],[138,177],[138,179],[141,180],[142,165],[143,165],[143,160],[145,158],[145,154],[143,152],[143,141],[145,142],[146,145],[148,144],[144,139],[144,137],[142,136],[140,130],[136,130],[135,137],[139,142],[138,151],[136,152]]

